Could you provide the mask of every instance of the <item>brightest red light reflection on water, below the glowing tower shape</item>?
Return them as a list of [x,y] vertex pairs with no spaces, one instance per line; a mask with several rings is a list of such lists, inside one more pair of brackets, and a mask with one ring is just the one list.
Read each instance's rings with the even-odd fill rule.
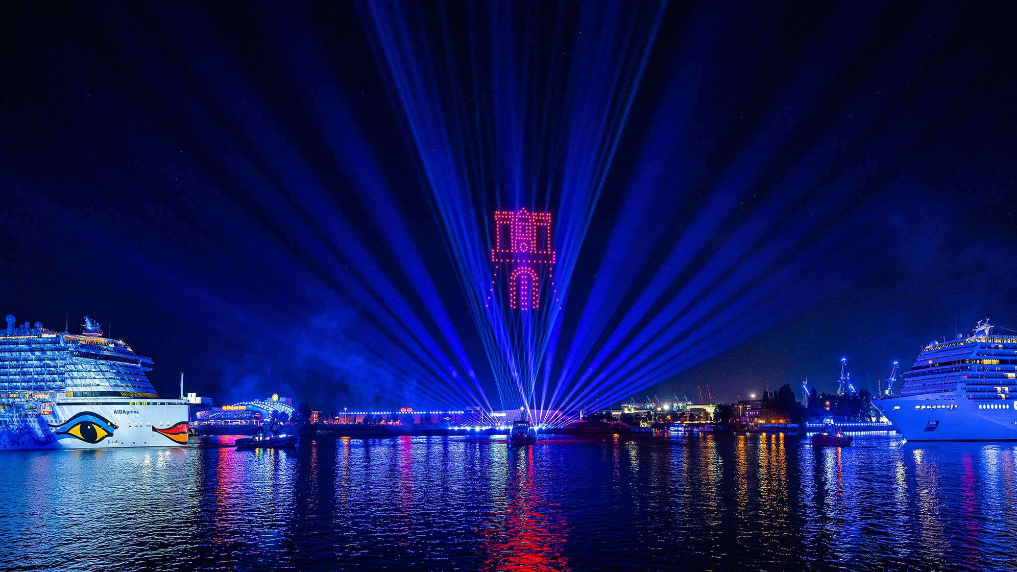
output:
[[538,491],[533,446],[508,452],[508,502],[483,531],[487,558],[482,570],[549,572],[569,570],[561,554],[565,519]]

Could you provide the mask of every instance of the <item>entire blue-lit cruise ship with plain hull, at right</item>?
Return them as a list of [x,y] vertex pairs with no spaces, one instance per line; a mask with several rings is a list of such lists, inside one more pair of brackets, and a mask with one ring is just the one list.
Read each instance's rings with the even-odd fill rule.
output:
[[1017,336],[993,328],[929,342],[900,394],[874,404],[908,441],[1017,441]]

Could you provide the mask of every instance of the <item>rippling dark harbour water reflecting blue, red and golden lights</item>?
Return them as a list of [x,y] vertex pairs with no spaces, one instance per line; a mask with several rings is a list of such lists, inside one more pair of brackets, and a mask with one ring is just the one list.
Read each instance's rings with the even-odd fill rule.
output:
[[1014,569],[1017,444],[231,440],[0,455],[0,569]]

